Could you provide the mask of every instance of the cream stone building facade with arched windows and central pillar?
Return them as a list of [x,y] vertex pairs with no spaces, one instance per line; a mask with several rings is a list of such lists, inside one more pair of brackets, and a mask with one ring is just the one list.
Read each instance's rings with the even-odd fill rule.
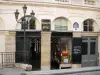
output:
[[[72,63],[72,67],[93,66],[100,64],[100,1],[97,0],[1,0],[0,1],[0,52],[16,52],[17,38],[23,35],[22,25],[16,22],[14,12],[19,10],[20,22],[23,15],[23,5],[27,5],[27,16],[35,12],[35,29],[26,29],[26,36],[34,37],[39,32],[40,42],[40,69],[51,68],[51,37],[53,32],[62,37],[71,33],[70,48],[72,51],[73,38],[81,38],[82,46],[85,49],[81,56],[81,63]],[[43,31],[43,22],[49,21],[50,30]],[[29,25],[28,25],[29,26]],[[19,32],[19,34],[17,33]],[[28,35],[28,32],[30,35]],[[60,34],[61,33],[61,34]],[[18,36],[17,36],[18,34]],[[32,34],[32,36],[31,36]],[[29,38],[30,39],[30,38]],[[33,45],[33,44],[31,44]],[[37,44],[39,45],[39,44]],[[92,48],[93,46],[93,48]],[[38,47],[37,47],[38,48]],[[92,50],[92,49],[95,50]],[[27,48],[29,49],[29,48]],[[83,50],[82,49],[82,50]],[[89,58],[87,58],[89,57]],[[2,58],[2,56],[0,56]],[[87,59],[86,59],[87,58]],[[9,57],[8,57],[9,59]],[[76,58],[77,59],[77,58]],[[93,60],[92,60],[93,59]],[[13,58],[16,63],[16,58]],[[88,61],[89,60],[89,61]],[[76,60],[77,61],[77,60]],[[0,63],[3,63],[0,60]],[[95,65],[94,65],[95,66]],[[34,66],[33,66],[34,67]]]

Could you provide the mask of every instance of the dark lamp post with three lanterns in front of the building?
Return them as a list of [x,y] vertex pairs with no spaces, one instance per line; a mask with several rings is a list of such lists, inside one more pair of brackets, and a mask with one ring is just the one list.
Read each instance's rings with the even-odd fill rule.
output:
[[[28,22],[26,21],[26,19],[25,19],[25,17],[26,17],[26,10],[27,10],[27,7],[26,7],[26,5],[24,5],[23,6],[23,13],[24,13],[24,17],[22,18],[22,22],[21,22],[21,24],[23,25],[23,27],[24,27],[24,52],[26,53],[26,35],[25,35],[25,31],[26,31],[26,26],[28,25]],[[33,10],[32,10],[32,12],[30,13],[30,15],[31,15],[31,18],[33,19],[34,18],[34,15],[35,15],[35,13],[33,12]],[[16,12],[15,12],[15,19],[16,19],[16,21],[17,21],[17,23],[18,23],[18,16],[19,16],[19,12],[18,12],[18,9],[16,9]],[[26,63],[26,55],[24,54],[24,62]]]

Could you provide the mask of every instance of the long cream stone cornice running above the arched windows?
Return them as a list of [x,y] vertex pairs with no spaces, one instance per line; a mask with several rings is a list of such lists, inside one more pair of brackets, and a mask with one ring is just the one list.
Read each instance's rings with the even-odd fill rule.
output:
[[35,5],[35,6],[46,6],[46,7],[61,7],[61,8],[73,8],[73,9],[84,9],[92,11],[100,11],[97,6],[83,6],[83,5],[73,5],[73,4],[62,4],[62,3],[52,3],[52,2],[35,2],[35,1],[0,1],[0,5]]

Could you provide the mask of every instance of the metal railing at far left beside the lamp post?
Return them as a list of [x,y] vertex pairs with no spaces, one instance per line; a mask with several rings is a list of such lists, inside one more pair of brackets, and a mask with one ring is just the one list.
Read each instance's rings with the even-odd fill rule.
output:
[[28,63],[26,52],[0,52],[0,65],[2,67],[14,67],[15,63]]

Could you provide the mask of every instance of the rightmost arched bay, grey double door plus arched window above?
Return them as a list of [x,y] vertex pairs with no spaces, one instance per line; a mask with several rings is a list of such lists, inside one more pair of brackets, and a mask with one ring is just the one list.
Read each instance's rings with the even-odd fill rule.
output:
[[83,31],[88,36],[82,36],[82,67],[98,65],[98,37],[89,36],[92,32],[98,30],[98,25],[93,19],[87,19],[83,22]]

